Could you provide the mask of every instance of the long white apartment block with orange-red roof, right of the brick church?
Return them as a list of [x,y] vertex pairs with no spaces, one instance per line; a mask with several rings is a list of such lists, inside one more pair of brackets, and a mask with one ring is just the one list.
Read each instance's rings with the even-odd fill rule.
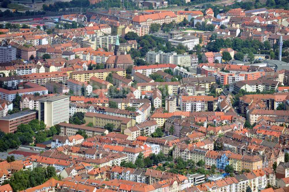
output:
[[171,69],[175,71],[177,66],[174,64],[157,64],[157,65],[148,65],[148,66],[135,66],[131,70],[131,74],[134,75],[135,72],[139,72],[147,77],[150,74],[157,72],[158,70],[164,71],[165,69]]

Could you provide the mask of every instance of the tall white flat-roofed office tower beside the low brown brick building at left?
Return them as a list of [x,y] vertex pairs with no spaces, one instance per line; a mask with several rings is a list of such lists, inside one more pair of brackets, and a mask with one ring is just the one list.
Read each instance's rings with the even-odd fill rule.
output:
[[69,96],[54,95],[38,99],[38,119],[51,127],[69,120]]

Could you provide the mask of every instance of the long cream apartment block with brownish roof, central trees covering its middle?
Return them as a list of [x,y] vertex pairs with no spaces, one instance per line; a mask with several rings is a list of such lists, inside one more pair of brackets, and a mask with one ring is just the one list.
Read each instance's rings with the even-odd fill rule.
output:
[[153,82],[153,83],[137,83],[136,88],[142,91],[153,91],[158,87],[168,86],[168,94],[177,94],[178,89],[181,86],[179,81],[175,82]]

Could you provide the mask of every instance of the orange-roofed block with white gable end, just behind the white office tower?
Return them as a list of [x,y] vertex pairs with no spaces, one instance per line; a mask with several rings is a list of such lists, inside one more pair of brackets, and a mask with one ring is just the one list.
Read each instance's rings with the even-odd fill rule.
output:
[[72,90],[75,95],[91,95],[92,93],[92,86],[87,82],[77,81],[75,79],[68,79],[67,80],[67,87],[69,90]]

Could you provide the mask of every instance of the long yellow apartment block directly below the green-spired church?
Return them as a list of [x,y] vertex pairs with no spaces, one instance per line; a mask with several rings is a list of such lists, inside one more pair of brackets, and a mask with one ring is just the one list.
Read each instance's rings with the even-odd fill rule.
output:
[[109,68],[109,69],[98,69],[98,70],[88,70],[88,71],[74,71],[69,74],[70,79],[75,79],[81,82],[89,82],[92,76],[105,80],[110,72],[116,72],[122,77],[125,77],[125,70],[121,68]]

